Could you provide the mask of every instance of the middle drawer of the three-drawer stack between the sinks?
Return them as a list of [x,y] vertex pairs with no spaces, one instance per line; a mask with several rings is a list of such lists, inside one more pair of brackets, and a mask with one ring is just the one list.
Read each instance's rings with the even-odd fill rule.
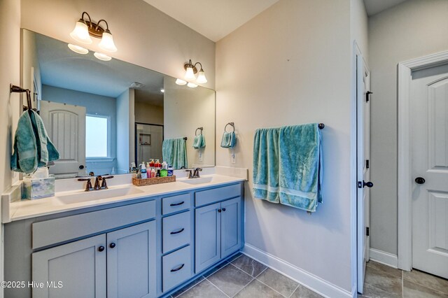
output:
[[191,211],[171,215],[162,219],[163,253],[190,243]]

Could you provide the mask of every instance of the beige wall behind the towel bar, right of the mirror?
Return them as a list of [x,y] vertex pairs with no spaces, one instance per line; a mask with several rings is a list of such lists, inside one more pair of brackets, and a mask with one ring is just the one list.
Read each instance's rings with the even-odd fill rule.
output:
[[[235,122],[237,163],[250,169],[246,243],[351,291],[349,1],[280,0],[216,44],[216,125]],[[313,215],[253,199],[258,127],[323,122],[323,200]],[[218,134],[216,141],[221,141]]]

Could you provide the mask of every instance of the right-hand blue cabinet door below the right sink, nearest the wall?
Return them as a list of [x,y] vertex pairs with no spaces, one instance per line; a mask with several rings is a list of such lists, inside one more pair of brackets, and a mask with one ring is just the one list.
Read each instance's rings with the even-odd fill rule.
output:
[[221,258],[241,247],[241,198],[221,203]]

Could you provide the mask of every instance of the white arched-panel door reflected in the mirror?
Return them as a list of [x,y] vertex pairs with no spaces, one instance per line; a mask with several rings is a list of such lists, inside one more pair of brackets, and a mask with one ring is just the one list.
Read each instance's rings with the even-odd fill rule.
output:
[[59,178],[85,176],[85,107],[41,101],[41,118],[60,158],[50,166]]

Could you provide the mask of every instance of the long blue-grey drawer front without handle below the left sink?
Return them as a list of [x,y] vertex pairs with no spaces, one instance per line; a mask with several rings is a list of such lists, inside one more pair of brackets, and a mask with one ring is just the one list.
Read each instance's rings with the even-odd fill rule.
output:
[[32,225],[32,248],[50,246],[151,218],[155,218],[155,201],[35,222]]

